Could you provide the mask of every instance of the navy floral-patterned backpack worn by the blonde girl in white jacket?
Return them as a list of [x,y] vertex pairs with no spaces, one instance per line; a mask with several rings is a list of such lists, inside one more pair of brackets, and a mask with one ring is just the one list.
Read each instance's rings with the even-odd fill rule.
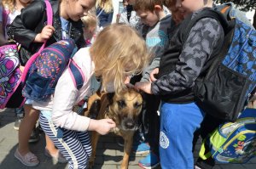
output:
[[26,99],[47,101],[55,91],[62,72],[68,67],[74,85],[79,89],[84,84],[84,74],[71,59],[77,52],[73,39],[61,40],[49,45],[34,60],[22,90]]

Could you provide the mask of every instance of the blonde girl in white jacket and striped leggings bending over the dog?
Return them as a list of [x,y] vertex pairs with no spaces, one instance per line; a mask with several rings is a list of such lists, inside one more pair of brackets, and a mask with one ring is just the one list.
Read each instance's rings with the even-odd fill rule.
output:
[[[125,32],[125,33],[124,33]],[[61,75],[53,100],[47,103],[34,102],[42,110],[40,124],[54,141],[69,163],[69,168],[86,168],[91,154],[88,131],[108,133],[115,123],[111,119],[93,120],[73,112],[73,105],[85,96],[96,92],[91,81],[102,79],[102,89],[120,93],[125,88],[125,79],[140,73],[148,63],[148,52],[143,39],[128,25],[113,24],[104,28],[90,48],[81,48],[73,60],[84,73],[83,87],[77,90],[68,70]],[[113,86],[114,91],[108,91]],[[62,138],[57,133],[62,128]]]

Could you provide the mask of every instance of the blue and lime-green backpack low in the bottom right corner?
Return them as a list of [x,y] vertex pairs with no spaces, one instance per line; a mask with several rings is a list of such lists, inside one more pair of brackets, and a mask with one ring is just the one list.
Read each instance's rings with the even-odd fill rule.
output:
[[199,155],[221,163],[246,163],[256,156],[256,110],[246,109],[235,122],[220,125],[203,140]]

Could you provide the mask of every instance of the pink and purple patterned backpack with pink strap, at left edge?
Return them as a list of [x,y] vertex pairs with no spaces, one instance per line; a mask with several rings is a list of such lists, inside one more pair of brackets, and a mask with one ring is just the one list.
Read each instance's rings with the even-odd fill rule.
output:
[[[48,0],[46,4],[47,24],[52,25],[53,12]],[[18,108],[24,104],[22,88],[32,63],[44,49],[46,41],[36,54],[27,61],[23,72],[20,70],[18,46],[16,43],[0,47],[0,109]]]

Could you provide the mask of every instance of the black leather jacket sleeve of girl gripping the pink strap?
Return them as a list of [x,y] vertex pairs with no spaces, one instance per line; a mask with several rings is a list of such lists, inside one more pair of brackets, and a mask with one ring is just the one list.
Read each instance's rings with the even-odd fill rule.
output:
[[38,24],[44,22],[45,8],[44,1],[34,1],[26,8],[22,8],[21,14],[7,27],[9,37],[19,42],[22,46],[29,48],[37,34],[44,27],[42,25],[41,30],[36,30]]

